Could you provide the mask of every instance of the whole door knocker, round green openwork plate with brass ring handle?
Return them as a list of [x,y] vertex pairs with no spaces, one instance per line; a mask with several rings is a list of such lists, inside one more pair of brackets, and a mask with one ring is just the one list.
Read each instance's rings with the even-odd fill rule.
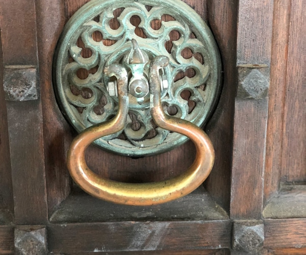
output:
[[[80,133],[67,156],[73,180],[95,197],[135,206],[195,190],[214,163],[213,145],[200,127],[216,105],[220,66],[207,24],[181,1],[92,0],[84,5],[64,28],[54,67],[60,108]],[[85,162],[91,143],[143,157],[188,139],[196,147],[195,161],[163,182],[107,180]]]

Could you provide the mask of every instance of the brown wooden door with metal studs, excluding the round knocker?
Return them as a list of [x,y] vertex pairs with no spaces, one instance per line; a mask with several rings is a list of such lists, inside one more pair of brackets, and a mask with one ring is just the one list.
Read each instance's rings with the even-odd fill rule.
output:
[[[0,254],[306,253],[306,2],[185,0],[222,58],[206,126],[216,161],[198,190],[153,207],[95,199],[67,171],[75,132],[52,63],[64,24],[86,2],[0,0]],[[183,172],[194,154],[190,142],[142,159],[92,147],[87,160],[109,179],[148,182]]]

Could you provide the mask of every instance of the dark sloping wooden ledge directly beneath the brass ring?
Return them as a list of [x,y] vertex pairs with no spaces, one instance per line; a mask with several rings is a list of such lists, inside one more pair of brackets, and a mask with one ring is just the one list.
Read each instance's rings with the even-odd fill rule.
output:
[[61,203],[50,221],[53,223],[81,223],[223,219],[228,219],[227,213],[203,188],[199,188],[180,199],[149,207],[115,205],[81,191],[73,192]]

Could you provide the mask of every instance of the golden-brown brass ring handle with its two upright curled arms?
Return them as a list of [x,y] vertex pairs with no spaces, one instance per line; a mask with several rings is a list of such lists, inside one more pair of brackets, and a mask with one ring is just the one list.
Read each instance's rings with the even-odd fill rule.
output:
[[104,179],[92,172],[85,161],[85,150],[96,139],[124,128],[129,106],[126,70],[111,65],[105,73],[118,79],[119,109],[110,121],[89,127],[76,137],[68,151],[68,169],[73,180],[87,193],[107,201],[133,206],[151,206],[185,196],[200,186],[210,174],[214,164],[214,148],[205,132],[193,123],[166,115],[161,103],[159,69],[169,59],[158,56],[150,65],[150,108],[156,124],[163,129],[189,137],[196,147],[196,158],[183,174],[173,179],[144,184],[120,183]]

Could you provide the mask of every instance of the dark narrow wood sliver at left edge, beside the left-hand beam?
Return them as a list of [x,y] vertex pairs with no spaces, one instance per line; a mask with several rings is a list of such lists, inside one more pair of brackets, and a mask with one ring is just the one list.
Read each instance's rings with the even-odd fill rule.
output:
[[13,212],[13,190],[11,175],[11,160],[9,148],[9,133],[7,122],[7,108],[3,89],[3,58],[0,31],[0,209]]

